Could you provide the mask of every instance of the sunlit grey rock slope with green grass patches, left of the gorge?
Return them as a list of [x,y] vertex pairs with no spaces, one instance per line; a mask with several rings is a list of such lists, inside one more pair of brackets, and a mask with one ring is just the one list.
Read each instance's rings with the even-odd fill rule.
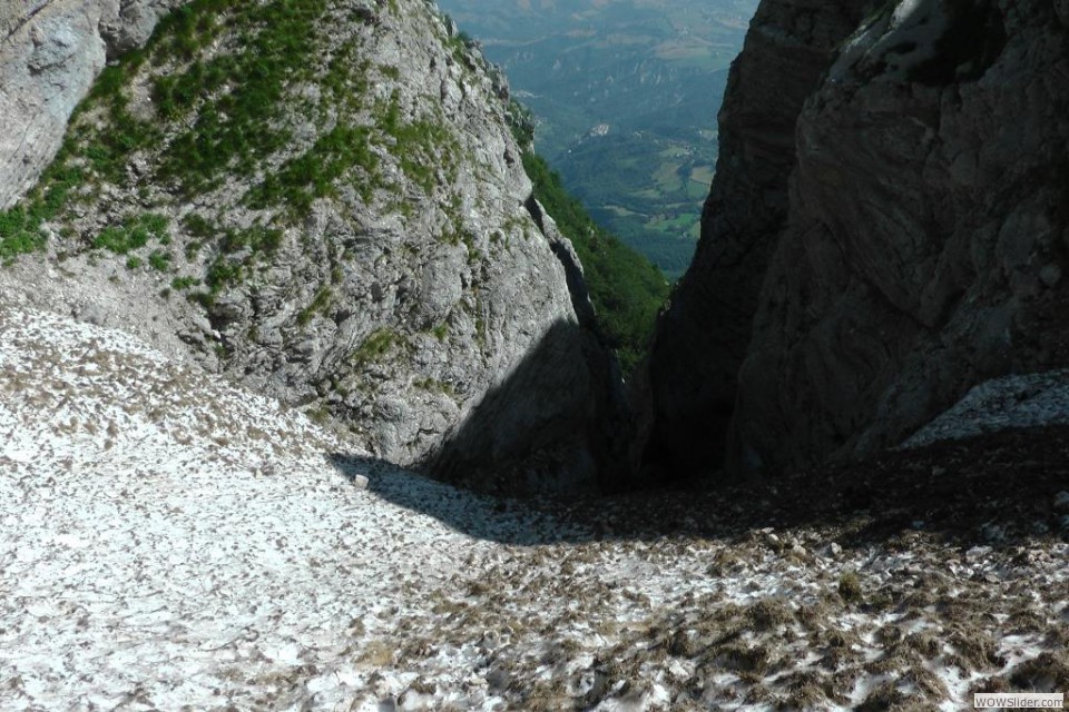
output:
[[[530,200],[507,96],[422,1],[196,0],[105,70],[0,214],[0,280],[393,462],[589,485],[610,469],[612,368],[571,247]],[[37,166],[50,136],[3,162]]]

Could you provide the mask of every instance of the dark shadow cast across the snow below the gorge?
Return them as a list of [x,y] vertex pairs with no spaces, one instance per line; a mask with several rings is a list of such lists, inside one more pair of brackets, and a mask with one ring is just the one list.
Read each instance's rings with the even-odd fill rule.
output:
[[[1033,537],[1069,538],[1069,426],[1010,429],[915,451],[887,452],[763,483],[632,492],[616,496],[501,498],[339,456],[370,488],[478,538],[539,545],[598,540],[706,537],[735,541],[773,527],[814,527],[844,547],[909,545],[923,532],[948,547],[1009,548]],[[391,474],[393,472],[393,474]]]

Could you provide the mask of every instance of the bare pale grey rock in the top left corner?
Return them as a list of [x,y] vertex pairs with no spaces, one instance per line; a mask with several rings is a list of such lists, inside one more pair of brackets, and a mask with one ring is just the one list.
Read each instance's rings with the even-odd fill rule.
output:
[[0,209],[56,156],[109,56],[144,44],[188,0],[16,0],[0,7]]

